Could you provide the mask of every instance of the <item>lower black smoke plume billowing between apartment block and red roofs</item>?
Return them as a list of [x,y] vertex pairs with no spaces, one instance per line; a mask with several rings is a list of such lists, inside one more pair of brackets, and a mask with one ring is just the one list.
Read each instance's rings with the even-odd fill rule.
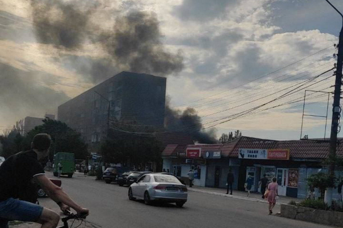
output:
[[193,108],[184,111],[170,108],[169,104],[165,109],[164,126],[166,130],[189,134],[193,141],[198,143],[218,143],[216,129],[202,130],[203,124],[200,117]]

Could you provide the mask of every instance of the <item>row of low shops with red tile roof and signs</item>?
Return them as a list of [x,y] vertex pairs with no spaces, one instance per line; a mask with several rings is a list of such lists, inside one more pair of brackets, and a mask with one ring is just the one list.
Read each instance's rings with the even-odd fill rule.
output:
[[[341,154],[343,147],[338,146]],[[329,153],[323,140],[266,140],[242,136],[226,144],[168,145],[162,152],[163,168],[188,179],[194,171],[194,185],[226,188],[229,170],[234,173],[233,188],[245,190],[248,175],[253,178],[252,191],[260,192],[259,181],[265,174],[276,177],[279,195],[305,198],[309,175],[326,172],[322,161]],[[337,190],[334,192],[337,194]],[[334,196],[335,198],[335,196]]]

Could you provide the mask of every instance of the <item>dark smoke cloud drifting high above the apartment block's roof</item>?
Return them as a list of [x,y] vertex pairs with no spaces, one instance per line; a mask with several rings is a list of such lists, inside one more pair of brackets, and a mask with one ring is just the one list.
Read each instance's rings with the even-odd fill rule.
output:
[[[180,51],[173,54],[165,49],[159,23],[153,13],[133,11],[115,16],[113,29],[105,30],[101,22],[95,24],[89,19],[104,7],[100,3],[32,0],[31,6],[35,35],[40,43],[65,50],[82,50],[89,43],[102,46],[109,58],[103,63],[92,58],[83,62],[82,57],[74,57],[86,80],[91,78],[91,81],[99,82],[122,70],[166,76],[184,67]],[[62,56],[62,64],[66,59],[70,61],[73,58]],[[80,66],[82,64],[85,66]],[[116,72],[101,75],[107,73],[107,69],[116,69]]]

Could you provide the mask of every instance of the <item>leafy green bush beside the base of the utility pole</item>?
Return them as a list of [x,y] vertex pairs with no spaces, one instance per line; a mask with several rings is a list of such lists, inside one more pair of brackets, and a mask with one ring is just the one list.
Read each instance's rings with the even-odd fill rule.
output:
[[319,188],[321,195],[323,195],[327,188],[336,186],[336,178],[327,173],[316,173],[307,178],[307,184],[311,189]]

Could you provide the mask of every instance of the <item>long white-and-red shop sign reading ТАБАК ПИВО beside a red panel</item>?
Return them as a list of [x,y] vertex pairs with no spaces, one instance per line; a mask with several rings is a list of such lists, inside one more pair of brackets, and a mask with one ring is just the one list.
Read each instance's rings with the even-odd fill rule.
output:
[[239,149],[238,158],[241,159],[268,159],[289,160],[288,149]]

